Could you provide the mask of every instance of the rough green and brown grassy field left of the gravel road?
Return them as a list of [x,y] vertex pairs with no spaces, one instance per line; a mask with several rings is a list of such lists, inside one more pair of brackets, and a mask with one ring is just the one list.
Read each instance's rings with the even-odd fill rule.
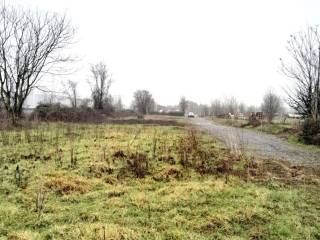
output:
[[181,126],[42,124],[0,140],[0,239],[320,238],[316,182],[285,184]]

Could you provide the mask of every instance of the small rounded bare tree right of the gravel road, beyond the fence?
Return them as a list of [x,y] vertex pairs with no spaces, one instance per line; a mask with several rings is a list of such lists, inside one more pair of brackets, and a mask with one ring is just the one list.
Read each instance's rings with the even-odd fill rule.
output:
[[280,97],[269,90],[263,97],[261,109],[266,115],[268,122],[271,123],[276,116],[276,113],[281,110]]

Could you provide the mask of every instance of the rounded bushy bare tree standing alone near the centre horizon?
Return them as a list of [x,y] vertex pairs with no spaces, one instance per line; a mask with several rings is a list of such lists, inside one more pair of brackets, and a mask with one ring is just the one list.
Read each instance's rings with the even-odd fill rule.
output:
[[133,98],[132,105],[140,114],[148,114],[155,105],[151,93],[147,90],[137,90]]

